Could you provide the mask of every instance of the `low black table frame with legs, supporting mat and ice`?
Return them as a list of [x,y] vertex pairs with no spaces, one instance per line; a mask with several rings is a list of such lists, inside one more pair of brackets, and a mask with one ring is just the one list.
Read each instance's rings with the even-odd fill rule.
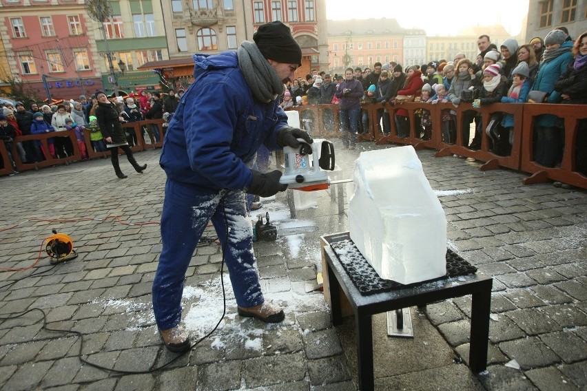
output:
[[[328,237],[322,237],[322,240],[323,243],[329,242]],[[435,282],[424,282],[384,293],[362,295],[340,264],[333,249],[329,245],[325,245],[323,251],[327,266],[325,284],[328,281],[332,323],[335,326],[342,324],[339,288],[349,300],[355,315],[360,390],[373,390],[374,386],[371,315],[411,306],[422,307],[439,300],[465,295],[472,297],[469,366],[473,372],[486,370],[491,286],[493,285],[491,277],[473,274],[440,279]]]

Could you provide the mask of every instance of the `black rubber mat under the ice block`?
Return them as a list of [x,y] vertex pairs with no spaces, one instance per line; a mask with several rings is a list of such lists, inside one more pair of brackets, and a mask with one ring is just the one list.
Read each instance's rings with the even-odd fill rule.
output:
[[416,282],[414,284],[400,284],[391,279],[379,277],[373,266],[367,262],[357,246],[350,239],[332,242],[330,244],[342,267],[351,278],[351,281],[361,295],[373,295],[375,293],[389,292],[390,290],[409,288],[426,282],[439,281],[450,277],[477,273],[477,268],[457,255],[451,249],[446,249],[446,275],[435,279]]

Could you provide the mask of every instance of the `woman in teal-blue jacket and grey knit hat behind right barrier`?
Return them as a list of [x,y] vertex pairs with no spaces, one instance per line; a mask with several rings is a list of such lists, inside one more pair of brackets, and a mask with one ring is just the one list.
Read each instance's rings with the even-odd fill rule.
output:
[[[532,90],[546,92],[547,103],[559,103],[561,96],[555,91],[555,81],[566,71],[566,66],[573,61],[570,50],[573,42],[565,41],[566,35],[561,30],[553,30],[546,35],[544,43],[546,50],[542,54],[538,74]],[[545,167],[555,167],[561,138],[558,134],[555,122],[557,116],[544,114],[537,116],[534,123],[535,152],[534,160]]]

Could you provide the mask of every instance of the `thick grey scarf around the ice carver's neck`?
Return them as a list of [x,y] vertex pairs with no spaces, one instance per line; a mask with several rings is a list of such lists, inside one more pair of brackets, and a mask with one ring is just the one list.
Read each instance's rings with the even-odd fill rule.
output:
[[262,56],[257,45],[243,41],[237,52],[238,67],[253,96],[263,103],[275,101],[284,92],[283,82],[269,61]]

